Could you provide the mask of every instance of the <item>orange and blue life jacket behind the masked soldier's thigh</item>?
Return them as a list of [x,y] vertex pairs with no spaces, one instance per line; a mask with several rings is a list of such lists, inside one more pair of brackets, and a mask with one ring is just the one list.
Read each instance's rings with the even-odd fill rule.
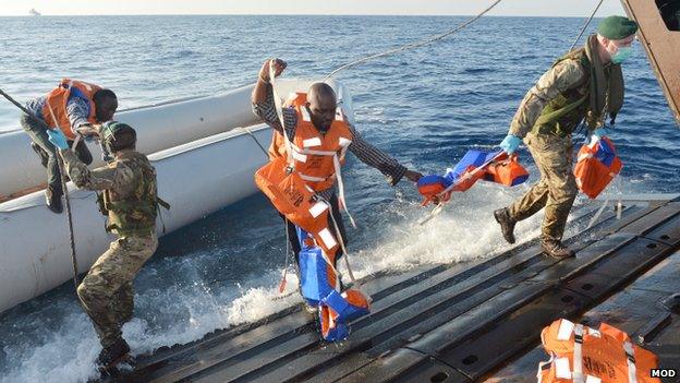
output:
[[622,167],[614,143],[603,136],[595,143],[581,146],[574,167],[576,185],[585,195],[596,199]]

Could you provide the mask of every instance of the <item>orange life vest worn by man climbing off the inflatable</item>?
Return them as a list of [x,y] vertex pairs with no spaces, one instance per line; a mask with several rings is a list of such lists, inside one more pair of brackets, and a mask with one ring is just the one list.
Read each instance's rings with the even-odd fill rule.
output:
[[74,140],[75,134],[71,130],[71,121],[69,121],[69,116],[66,115],[66,103],[69,103],[69,97],[73,88],[77,88],[89,101],[89,116],[87,117],[87,121],[96,123],[95,101],[93,100],[93,96],[97,91],[101,89],[101,87],[95,84],[63,79],[52,92],[47,94],[47,99],[42,107],[42,119],[45,122],[52,128],[59,127],[70,140]]

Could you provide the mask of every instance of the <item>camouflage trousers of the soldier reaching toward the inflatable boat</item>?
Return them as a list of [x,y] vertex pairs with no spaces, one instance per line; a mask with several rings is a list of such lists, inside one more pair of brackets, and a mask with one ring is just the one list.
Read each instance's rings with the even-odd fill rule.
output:
[[132,319],[132,282],[157,247],[156,235],[121,237],[111,242],[78,286],[83,309],[92,319],[104,348],[116,343],[122,335],[123,324]]

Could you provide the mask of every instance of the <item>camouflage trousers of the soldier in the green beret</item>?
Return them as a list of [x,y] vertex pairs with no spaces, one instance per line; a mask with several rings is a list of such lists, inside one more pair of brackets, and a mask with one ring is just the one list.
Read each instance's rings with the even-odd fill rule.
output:
[[569,212],[579,192],[572,169],[571,135],[559,137],[530,133],[524,143],[541,171],[541,180],[508,207],[510,217],[515,220],[526,219],[545,207],[542,237],[561,240]]

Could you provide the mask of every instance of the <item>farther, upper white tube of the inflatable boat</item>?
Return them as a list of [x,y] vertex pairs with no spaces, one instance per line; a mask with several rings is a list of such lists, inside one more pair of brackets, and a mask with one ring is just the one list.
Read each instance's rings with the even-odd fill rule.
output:
[[[306,91],[309,82],[281,80],[278,84],[283,97],[294,89]],[[236,127],[256,124],[257,118],[251,109],[252,91],[250,85],[217,96],[130,109],[116,113],[114,118],[135,128],[137,149],[151,154]],[[0,133],[0,201],[46,183],[45,168],[29,144],[31,139],[21,129]],[[92,142],[88,147],[95,158],[93,166],[101,165],[99,145]]]

